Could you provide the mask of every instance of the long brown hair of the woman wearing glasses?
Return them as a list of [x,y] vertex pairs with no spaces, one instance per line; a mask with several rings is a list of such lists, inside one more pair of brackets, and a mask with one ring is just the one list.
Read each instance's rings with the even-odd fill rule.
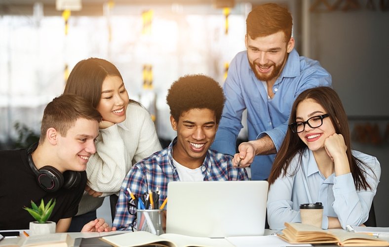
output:
[[[347,114],[336,91],[330,87],[321,86],[310,88],[302,92],[293,103],[289,124],[296,121],[297,107],[302,101],[306,99],[312,99],[320,104],[330,115],[329,118],[334,125],[335,132],[343,135],[345,144],[347,146],[346,154],[349,160],[350,171],[354,179],[355,188],[357,190],[361,188],[364,190],[367,188],[371,189],[363,174],[365,172],[363,166],[366,165],[351,154],[350,129],[349,123],[347,121]],[[290,128],[288,128],[286,131],[285,139],[282,142],[277,155],[275,156],[272,170],[268,179],[269,184],[272,184],[280,175],[291,175],[286,174],[290,162],[296,155],[300,155],[299,159],[301,161],[302,154],[306,148],[308,148],[307,145],[305,145],[300,137],[296,133],[293,133]]]

